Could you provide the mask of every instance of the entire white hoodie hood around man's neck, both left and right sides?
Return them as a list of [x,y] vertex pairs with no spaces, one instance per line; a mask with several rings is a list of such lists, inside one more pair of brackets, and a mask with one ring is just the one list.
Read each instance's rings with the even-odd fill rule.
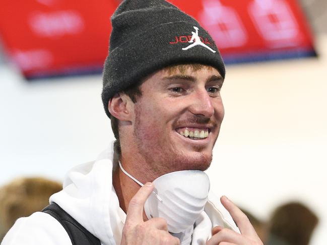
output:
[[[120,244],[126,219],[126,214],[119,207],[119,200],[112,185],[113,155],[112,142],[95,161],[70,170],[64,179],[63,190],[50,197],[50,203],[57,203],[89,232],[98,237],[102,245]],[[206,240],[211,237],[211,228],[216,225],[239,232],[219,198],[209,192],[209,201],[205,206],[202,219],[195,222],[191,244],[205,244]],[[189,241],[187,243],[185,240],[181,244],[189,244]]]

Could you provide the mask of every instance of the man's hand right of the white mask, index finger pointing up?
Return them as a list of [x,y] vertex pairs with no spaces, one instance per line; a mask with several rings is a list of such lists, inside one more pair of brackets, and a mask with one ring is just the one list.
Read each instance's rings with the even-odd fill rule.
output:
[[207,245],[263,245],[246,215],[227,197],[221,197],[220,201],[231,214],[241,234],[216,226],[212,229],[213,236],[207,241]]

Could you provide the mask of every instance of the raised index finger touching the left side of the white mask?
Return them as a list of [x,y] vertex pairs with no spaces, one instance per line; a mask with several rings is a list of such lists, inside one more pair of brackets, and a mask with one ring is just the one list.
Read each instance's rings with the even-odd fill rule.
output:
[[151,182],[148,182],[140,188],[140,190],[135,194],[132,199],[130,199],[125,223],[143,222],[144,204],[152,193],[153,189],[154,185]]

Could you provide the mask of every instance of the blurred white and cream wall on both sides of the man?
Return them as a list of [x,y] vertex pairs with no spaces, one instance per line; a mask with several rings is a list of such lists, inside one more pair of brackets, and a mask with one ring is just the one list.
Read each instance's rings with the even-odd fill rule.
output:
[[[318,59],[227,67],[226,116],[208,171],[212,189],[261,218],[305,202],[321,218],[312,245],[327,244],[326,44],[318,40]],[[0,185],[25,175],[62,180],[94,159],[113,138],[100,94],[99,75],[29,84],[0,67]]]

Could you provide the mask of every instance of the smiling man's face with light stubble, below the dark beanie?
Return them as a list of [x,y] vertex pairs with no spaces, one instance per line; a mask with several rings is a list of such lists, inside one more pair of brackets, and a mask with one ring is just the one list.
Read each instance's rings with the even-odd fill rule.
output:
[[160,70],[141,85],[134,104],[138,152],[158,176],[179,170],[206,170],[224,117],[217,69],[187,66]]

